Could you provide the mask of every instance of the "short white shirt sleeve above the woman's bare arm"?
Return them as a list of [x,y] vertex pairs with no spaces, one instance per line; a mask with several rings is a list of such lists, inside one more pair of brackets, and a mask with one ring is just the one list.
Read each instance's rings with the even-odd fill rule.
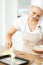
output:
[[15,21],[14,24],[13,24],[13,26],[17,30],[23,30],[25,28],[25,25],[26,25],[26,20],[25,20],[24,16],[17,18],[17,21]]

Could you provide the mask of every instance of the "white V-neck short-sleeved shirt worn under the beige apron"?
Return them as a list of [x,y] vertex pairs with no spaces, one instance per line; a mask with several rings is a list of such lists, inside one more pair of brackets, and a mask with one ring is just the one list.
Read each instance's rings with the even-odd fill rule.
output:
[[27,18],[28,18],[28,15],[24,15],[24,16],[19,17],[17,19],[17,21],[14,22],[14,27],[18,30],[21,30],[21,31],[24,30],[25,27],[26,27],[25,31],[28,31],[30,33],[37,33],[38,32],[38,26],[40,26],[41,29],[42,29],[42,32],[43,32],[43,20],[40,20],[38,22],[38,25],[37,25],[36,29],[33,32],[31,32],[30,29],[29,29],[28,24],[26,23]]

